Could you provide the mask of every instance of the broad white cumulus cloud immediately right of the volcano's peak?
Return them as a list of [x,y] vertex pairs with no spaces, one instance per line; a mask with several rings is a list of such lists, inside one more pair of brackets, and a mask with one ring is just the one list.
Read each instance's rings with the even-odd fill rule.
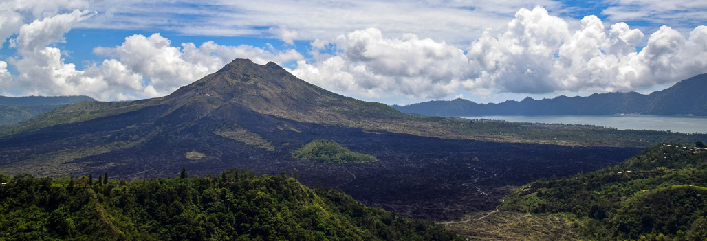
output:
[[472,74],[461,49],[412,34],[385,38],[380,30],[368,28],[340,35],[334,46],[336,56],[311,64],[298,61],[293,74],[330,90],[368,98],[442,97]]

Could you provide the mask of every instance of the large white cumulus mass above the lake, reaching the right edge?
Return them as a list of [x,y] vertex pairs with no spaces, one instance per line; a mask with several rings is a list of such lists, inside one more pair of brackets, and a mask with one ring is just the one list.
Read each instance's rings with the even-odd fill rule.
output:
[[[636,52],[643,33],[626,23],[609,30],[586,16],[577,30],[544,8],[521,9],[505,33],[489,33],[472,43],[469,59],[481,77],[467,88],[510,93],[607,92],[650,88],[707,71],[706,42],[700,26],[689,39],[663,26]],[[691,54],[690,54],[691,52]]]

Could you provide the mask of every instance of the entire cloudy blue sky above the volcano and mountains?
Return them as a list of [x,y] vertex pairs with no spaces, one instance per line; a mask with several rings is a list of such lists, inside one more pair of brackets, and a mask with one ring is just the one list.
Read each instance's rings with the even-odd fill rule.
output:
[[410,104],[648,93],[707,72],[703,1],[0,3],[0,95],[167,95],[235,58]]

